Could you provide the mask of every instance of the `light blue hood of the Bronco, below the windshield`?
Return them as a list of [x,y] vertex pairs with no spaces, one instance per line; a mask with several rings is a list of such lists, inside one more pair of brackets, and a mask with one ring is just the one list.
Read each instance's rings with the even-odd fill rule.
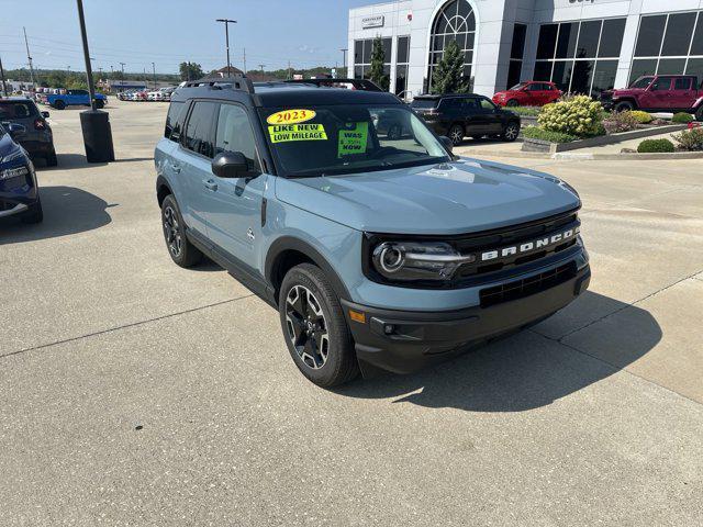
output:
[[349,176],[277,178],[276,194],[352,228],[388,234],[480,232],[581,204],[557,178],[475,159]]

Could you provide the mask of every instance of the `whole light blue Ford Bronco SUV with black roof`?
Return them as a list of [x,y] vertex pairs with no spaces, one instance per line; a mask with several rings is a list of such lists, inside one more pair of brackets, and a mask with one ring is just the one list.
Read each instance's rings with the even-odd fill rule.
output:
[[[406,133],[384,135],[388,121]],[[276,306],[321,386],[518,330],[590,281],[571,187],[455,157],[390,93],[190,83],[155,164],[174,261],[207,255]]]

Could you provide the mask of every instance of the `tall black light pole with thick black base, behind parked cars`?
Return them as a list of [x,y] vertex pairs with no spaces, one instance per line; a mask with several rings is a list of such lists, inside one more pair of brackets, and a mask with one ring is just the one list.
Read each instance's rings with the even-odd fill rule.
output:
[[83,2],[76,0],[78,7],[78,21],[80,22],[80,36],[83,43],[83,58],[86,60],[86,77],[88,78],[88,91],[90,92],[90,106],[80,113],[80,127],[83,133],[86,147],[86,160],[88,162],[114,161],[114,148],[112,146],[112,128],[108,112],[99,111],[96,101],[96,86],[92,81],[92,65],[88,49],[88,33],[86,32],[86,18],[83,16]]

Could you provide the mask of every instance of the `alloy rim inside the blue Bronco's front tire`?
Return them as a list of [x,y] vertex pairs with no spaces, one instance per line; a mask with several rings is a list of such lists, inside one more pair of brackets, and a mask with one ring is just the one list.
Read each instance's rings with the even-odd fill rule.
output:
[[322,305],[304,285],[293,285],[286,295],[286,326],[298,357],[313,370],[327,362],[330,336]]

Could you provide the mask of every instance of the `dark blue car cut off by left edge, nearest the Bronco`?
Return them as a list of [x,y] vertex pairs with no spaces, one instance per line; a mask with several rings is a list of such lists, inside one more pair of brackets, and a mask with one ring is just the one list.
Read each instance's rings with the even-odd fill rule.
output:
[[36,172],[29,154],[15,143],[15,135],[24,126],[0,124],[0,220],[19,216],[24,223],[40,223],[44,218]]

